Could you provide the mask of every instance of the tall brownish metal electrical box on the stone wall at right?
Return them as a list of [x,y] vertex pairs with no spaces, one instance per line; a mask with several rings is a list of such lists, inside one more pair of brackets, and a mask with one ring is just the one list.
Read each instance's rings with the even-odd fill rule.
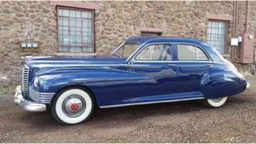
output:
[[244,33],[242,35],[241,43],[241,63],[251,64],[253,63],[253,49],[254,49],[254,34]]

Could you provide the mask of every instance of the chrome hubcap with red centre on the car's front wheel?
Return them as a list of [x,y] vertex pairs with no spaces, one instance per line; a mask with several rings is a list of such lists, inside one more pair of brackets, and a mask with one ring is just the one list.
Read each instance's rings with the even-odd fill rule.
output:
[[84,112],[85,107],[85,101],[81,96],[71,95],[64,100],[62,110],[69,117],[78,117]]

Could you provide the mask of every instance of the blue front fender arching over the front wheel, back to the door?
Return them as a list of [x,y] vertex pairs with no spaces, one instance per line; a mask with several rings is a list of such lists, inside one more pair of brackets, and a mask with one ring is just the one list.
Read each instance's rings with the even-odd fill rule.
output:
[[107,87],[129,82],[129,73],[110,67],[65,68],[40,73],[39,92],[56,93],[71,85],[85,86],[94,92],[95,87]]

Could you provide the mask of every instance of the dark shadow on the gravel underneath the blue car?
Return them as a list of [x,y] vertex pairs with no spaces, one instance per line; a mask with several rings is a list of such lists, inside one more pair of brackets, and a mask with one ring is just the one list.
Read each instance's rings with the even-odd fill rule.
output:
[[[241,96],[230,97],[227,104],[224,105],[222,110],[232,108],[233,106],[243,105],[251,100],[246,100]],[[141,120],[143,118],[160,115],[179,115],[182,113],[191,113],[196,111],[210,111],[208,107],[203,104],[203,100],[193,101],[181,101],[170,102],[162,104],[129,106],[119,108],[98,109],[94,112],[90,119],[79,126],[86,127],[109,127],[116,125],[129,125],[134,121]],[[218,110],[218,109],[215,109]],[[28,113],[26,112],[20,118],[22,122],[30,125],[36,125],[36,127],[58,127],[60,125],[51,115],[50,109],[42,113]]]

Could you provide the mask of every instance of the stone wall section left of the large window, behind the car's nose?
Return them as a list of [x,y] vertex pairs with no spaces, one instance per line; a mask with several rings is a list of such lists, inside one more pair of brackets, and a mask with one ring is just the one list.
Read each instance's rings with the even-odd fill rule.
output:
[[[21,84],[22,57],[27,55],[51,55],[57,52],[56,9],[44,1],[0,2],[0,89],[14,91]],[[32,26],[27,30],[26,23]],[[25,34],[40,44],[38,52],[22,52]]]

